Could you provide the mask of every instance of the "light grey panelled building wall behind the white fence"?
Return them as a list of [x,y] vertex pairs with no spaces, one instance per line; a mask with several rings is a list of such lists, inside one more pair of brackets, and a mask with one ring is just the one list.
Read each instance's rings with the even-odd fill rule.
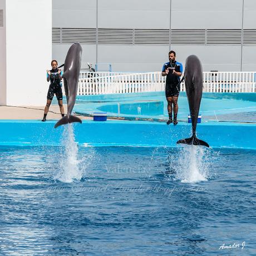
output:
[[[188,55],[198,55],[204,71],[254,71],[255,17],[254,0],[55,0],[52,26],[60,31],[91,29],[91,41],[81,43],[82,68],[91,62],[111,63],[112,71],[159,71],[168,61],[168,51],[174,50],[183,63]],[[65,37],[64,30],[60,37]],[[167,37],[154,43],[161,31]],[[70,41],[53,43],[53,58],[65,60],[75,33],[71,32]],[[136,39],[136,33],[144,33],[143,42]],[[106,65],[99,64],[101,67]]]

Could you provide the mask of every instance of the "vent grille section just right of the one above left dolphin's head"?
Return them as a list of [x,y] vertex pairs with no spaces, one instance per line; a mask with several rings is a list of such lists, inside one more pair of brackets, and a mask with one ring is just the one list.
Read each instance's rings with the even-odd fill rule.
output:
[[133,34],[133,29],[99,28],[98,43],[132,45]]

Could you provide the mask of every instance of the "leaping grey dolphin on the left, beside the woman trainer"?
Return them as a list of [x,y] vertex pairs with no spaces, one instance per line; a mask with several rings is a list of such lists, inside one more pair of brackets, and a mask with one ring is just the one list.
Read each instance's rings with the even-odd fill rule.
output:
[[76,102],[78,78],[81,67],[81,57],[82,47],[80,43],[73,43],[73,45],[68,49],[64,64],[64,72],[62,75],[64,80],[65,93],[67,97],[67,115],[62,117],[62,119],[55,124],[55,128],[60,125],[68,124],[70,122],[82,123],[79,117],[71,115],[71,112]]

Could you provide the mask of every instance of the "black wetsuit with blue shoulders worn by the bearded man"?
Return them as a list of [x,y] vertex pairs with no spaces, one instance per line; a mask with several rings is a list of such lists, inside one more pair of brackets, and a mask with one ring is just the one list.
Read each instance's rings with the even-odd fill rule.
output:
[[169,68],[169,73],[166,75],[166,82],[165,82],[165,96],[166,97],[173,97],[179,96],[180,93],[180,77],[173,75],[173,69],[176,72],[183,72],[183,66],[178,61],[173,62],[166,62],[163,66],[162,72],[165,72],[165,70]]

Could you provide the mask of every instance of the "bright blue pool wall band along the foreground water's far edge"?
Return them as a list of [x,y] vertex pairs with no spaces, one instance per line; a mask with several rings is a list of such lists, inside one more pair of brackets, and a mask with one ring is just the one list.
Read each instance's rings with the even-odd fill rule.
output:
[[[1,120],[0,145],[60,146],[63,126],[54,129],[56,121]],[[82,146],[152,146],[176,147],[176,141],[191,136],[191,124],[161,122],[83,120],[73,124],[75,140]],[[198,124],[199,139],[211,147],[256,149],[256,124],[209,122]]]

